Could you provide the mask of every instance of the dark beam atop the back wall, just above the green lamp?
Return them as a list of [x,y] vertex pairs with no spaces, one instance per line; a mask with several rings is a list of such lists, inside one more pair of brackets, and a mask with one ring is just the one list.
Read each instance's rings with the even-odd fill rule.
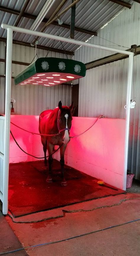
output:
[[[6,42],[6,40],[7,40],[6,38],[0,37],[0,41]],[[25,43],[25,42],[17,41],[17,40],[13,40],[13,44],[32,47],[30,43]],[[56,49],[56,48],[47,47],[47,46],[43,46],[43,45],[36,45],[36,47],[38,49],[42,49],[42,50],[45,50],[45,51],[53,51],[53,52],[59,52],[59,53],[62,53],[62,54],[67,54],[67,55],[74,55],[73,51],[64,51],[64,50],[61,50],[61,49]]]

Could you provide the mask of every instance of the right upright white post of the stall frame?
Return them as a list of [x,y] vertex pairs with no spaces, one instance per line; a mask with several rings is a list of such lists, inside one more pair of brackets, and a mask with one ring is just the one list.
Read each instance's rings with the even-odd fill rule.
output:
[[131,85],[133,73],[133,55],[129,55],[128,80],[127,80],[127,98],[126,98],[126,134],[124,148],[124,174],[123,174],[123,190],[126,190],[127,178],[127,161],[128,161],[128,140],[129,140],[129,120],[130,120],[130,101],[131,101]]

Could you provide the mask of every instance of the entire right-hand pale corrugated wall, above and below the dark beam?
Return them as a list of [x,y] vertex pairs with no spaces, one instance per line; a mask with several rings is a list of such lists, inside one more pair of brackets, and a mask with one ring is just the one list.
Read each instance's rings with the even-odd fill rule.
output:
[[[140,45],[140,4],[134,2],[131,9],[125,8],[106,26],[98,36],[88,42],[118,49]],[[106,39],[106,40],[105,40]],[[121,45],[121,46],[117,46]],[[113,52],[80,47],[75,59],[84,63],[111,55]],[[96,117],[104,114],[108,118],[125,118],[128,59],[87,70],[85,78],[79,80],[79,116]],[[130,114],[128,149],[128,171],[140,180],[140,55],[134,56],[131,98],[136,101]]]

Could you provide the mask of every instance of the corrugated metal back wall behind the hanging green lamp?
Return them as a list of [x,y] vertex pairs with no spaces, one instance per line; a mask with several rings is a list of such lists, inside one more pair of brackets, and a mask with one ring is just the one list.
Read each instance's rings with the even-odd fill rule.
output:
[[[5,43],[0,42],[1,59],[5,59]],[[47,51],[37,49],[38,57],[45,57]],[[12,60],[31,63],[35,56],[35,48],[13,44]],[[50,51],[48,57],[66,58],[66,55]],[[69,56],[71,58],[71,56]],[[24,70],[27,66],[12,64],[12,77]],[[5,63],[0,62],[0,75],[5,75]],[[39,115],[45,109],[54,109],[58,106],[59,100],[63,105],[70,105],[72,88],[70,85],[57,85],[45,87],[41,85],[19,86],[14,84],[12,79],[12,98],[14,114]],[[0,113],[4,114],[5,109],[5,78],[0,77]]]

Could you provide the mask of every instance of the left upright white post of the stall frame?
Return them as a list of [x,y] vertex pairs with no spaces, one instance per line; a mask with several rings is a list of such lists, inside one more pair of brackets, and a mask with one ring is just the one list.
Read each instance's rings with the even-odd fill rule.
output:
[[10,112],[12,82],[12,40],[13,30],[7,29],[6,50],[6,87],[5,87],[5,131],[4,131],[4,175],[3,175],[3,214],[8,213],[8,181],[9,181],[9,146],[10,146]]

